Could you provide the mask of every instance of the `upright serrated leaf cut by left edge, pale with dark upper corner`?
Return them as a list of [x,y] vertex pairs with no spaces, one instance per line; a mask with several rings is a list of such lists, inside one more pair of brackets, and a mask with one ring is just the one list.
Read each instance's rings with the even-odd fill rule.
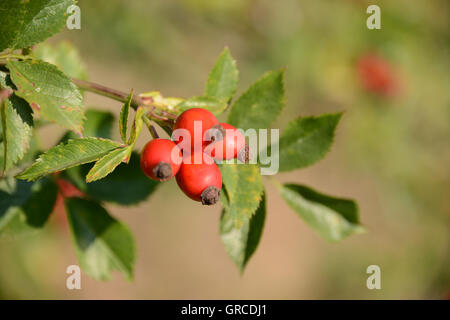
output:
[[32,110],[15,94],[3,100],[1,106],[5,171],[21,160],[30,146],[33,133]]

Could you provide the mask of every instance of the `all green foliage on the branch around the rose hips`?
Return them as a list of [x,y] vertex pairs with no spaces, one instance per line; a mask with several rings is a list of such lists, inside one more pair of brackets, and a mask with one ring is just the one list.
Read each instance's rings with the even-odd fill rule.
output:
[[[24,49],[23,55],[13,51],[0,55],[2,62],[6,62],[6,69],[0,71],[0,87],[9,96],[2,94],[0,101],[1,168],[12,169],[21,159],[34,158],[37,147],[35,139],[32,140],[33,112],[42,117],[35,123],[55,122],[69,130],[61,143],[17,175],[21,180],[0,178],[0,235],[42,228],[56,202],[58,190],[54,179],[61,177],[73,183],[85,197],[64,199],[83,271],[105,280],[113,270],[119,270],[132,279],[135,263],[132,235],[100,203],[136,204],[157,189],[159,183],[141,172],[139,155],[133,153],[133,148],[144,122],[155,121],[169,134],[171,125],[152,118],[154,113],[149,111],[163,115],[204,108],[220,115],[237,90],[239,72],[225,48],[209,73],[204,96],[183,100],[164,98],[159,92],[140,94],[144,105],[135,110],[129,130],[131,91],[118,121],[122,143],[110,140],[114,116],[92,109],[84,112],[80,90],[70,78],[87,78],[76,49],[67,43],[56,46],[41,43],[33,50],[28,48],[60,30],[67,18],[65,11],[73,3],[73,0],[0,3],[0,51]],[[283,78],[284,69],[264,74],[234,102],[228,122],[244,130],[268,128],[285,104]],[[82,82],[76,83],[83,86]],[[101,92],[100,86],[91,86],[85,89]],[[111,96],[111,92],[105,95]],[[124,100],[121,94],[116,96]],[[291,121],[278,145],[280,170],[304,168],[320,160],[330,149],[340,117],[341,114],[330,114]],[[258,165],[224,162],[220,170],[223,178],[220,236],[226,252],[242,272],[263,233],[266,195]],[[52,178],[44,177],[60,171]],[[37,179],[40,180],[22,181]],[[286,184],[279,189],[300,217],[328,240],[340,240],[363,230],[356,204],[351,200],[329,197],[300,185]]]

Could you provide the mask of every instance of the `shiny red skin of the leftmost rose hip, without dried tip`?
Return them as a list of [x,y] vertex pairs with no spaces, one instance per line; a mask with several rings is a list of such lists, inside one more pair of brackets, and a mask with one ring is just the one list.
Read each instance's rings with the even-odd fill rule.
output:
[[[177,163],[172,158],[172,150],[176,148],[175,155],[182,159],[181,150],[169,139],[153,139],[149,141],[141,153],[141,169],[151,179],[161,181],[155,176],[153,169],[162,161],[170,164],[172,168],[172,177],[177,174],[181,166],[181,161]],[[167,179],[165,179],[167,180]]]

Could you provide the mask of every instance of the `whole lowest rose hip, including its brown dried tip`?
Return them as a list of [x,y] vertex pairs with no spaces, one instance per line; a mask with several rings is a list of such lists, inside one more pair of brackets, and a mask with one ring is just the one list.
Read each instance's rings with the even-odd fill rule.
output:
[[180,189],[195,201],[213,205],[220,199],[222,174],[214,160],[203,152],[184,157],[176,179]]

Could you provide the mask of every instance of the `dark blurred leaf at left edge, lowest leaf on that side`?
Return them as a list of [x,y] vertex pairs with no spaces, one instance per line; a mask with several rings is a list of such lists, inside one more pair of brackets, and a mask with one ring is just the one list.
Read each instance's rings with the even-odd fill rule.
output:
[[50,179],[25,182],[0,180],[0,236],[16,237],[42,228],[56,202],[57,187]]

